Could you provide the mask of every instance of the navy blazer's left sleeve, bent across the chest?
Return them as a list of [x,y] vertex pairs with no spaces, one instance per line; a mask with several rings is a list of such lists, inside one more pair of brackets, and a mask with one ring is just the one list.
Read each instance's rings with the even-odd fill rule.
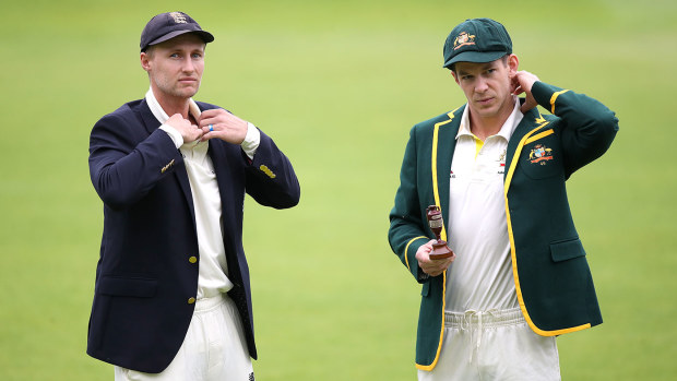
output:
[[111,114],[96,122],[90,135],[90,177],[112,209],[141,200],[182,163],[166,132],[157,129],[149,135],[139,123],[133,117]]

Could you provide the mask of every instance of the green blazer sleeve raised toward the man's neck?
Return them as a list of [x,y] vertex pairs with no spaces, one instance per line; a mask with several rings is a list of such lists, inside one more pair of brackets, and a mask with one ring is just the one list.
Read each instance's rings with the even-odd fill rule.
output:
[[543,82],[534,83],[536,102],[561,121],[566,177],[602,156],[618,131],[614,111],[596,99]]

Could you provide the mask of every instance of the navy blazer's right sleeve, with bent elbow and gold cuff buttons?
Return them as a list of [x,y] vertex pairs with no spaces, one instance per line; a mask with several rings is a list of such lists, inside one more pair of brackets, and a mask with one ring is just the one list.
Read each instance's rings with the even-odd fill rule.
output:
[[298,204],[300,186],[289,159],[261,131],[261,142],[247,167],[247,193],[258,203],[275,209]]

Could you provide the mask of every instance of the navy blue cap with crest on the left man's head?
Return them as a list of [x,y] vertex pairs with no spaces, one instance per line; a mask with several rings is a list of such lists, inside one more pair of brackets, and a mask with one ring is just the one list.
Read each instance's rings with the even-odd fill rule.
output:
[[200,24],[188,14],[183,12],[167,12],[154,16],[145,24],[143,32],[141,32],[141,51],[145,51],[151,45],[166,41],[185,33],[194,33],[205,44],[214,40],[214,36],[209,32],[202,31]]

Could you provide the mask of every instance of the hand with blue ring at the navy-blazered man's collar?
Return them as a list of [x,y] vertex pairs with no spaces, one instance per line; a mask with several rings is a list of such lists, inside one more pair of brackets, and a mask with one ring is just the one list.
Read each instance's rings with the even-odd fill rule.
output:
[[[202,135],[203,142],[210,139],[218,138],[228,143],[241,144],[245,141],[245,136],[247,136],[247,121],[236,117],[223,108],[214,108],[202,111],[198,123],[204,132]],[[210,127],[212,128],[211,131]]]

